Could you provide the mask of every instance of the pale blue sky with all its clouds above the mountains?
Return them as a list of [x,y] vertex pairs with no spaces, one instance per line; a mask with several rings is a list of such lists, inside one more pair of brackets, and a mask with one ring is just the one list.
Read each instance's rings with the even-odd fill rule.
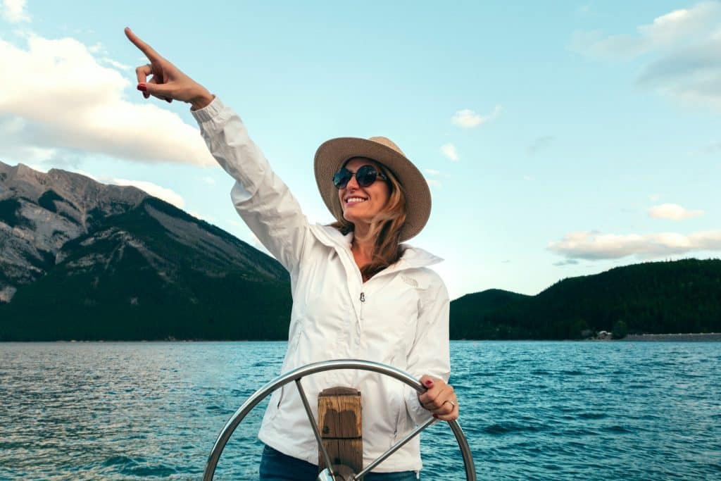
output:
[[[387,136],[456,298],[720,257],[721,2],[0,4],[0,160],[133,184],[257,246],[129,26],[239,112],[311,221],[317,146]],[[202,11],[200,10],[202,9]]]

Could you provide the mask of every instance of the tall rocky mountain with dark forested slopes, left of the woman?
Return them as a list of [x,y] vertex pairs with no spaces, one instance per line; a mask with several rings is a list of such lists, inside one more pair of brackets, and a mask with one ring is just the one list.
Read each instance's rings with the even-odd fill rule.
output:
[[135,187],[0,162],[0,340],[287,335],[286,270]]

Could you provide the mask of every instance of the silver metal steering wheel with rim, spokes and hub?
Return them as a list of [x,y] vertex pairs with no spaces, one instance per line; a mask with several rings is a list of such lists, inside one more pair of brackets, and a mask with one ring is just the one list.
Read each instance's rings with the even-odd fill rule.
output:
[[[325,465],[327,466],[325,469],[323,469],[322,472],[318,475],[318,480],[322,481],[334,481],[336,479],[341,479],[344,481],[347,480],[361,480],[363,479],[363,476],[366,475],[368,472],[371,471],[374,467],[378,466],[381,462],[383,462],[388,456],[393,454],[395,451],[397,451],[401,446],[406,444],[408,441],[410,441],[412,438],[414,438],[418,433],[423,431],[425,428],[428,428],[429,425],[438,422],[438,420],[434,418],[430,418],[427,422],[423,423],[422,425],[417,426],[413,431],[408,433],[407,436],[405,436],[402,440],[398,441],[396,444],[391,446],[384,454],[381,454],[377,459],[375,459],[371,464],[368,464],[368,466],[364,467],[361,472],[353,473],[348,472],[348,469],[337,469],[332,465],[330,462],[328,453],[323,446],[323,443],[321,441],[321,436],[318,431],[318,425],[316,423],[316,420],[313,416],[313,412],[311,412],[311,407],[308,404],[308,399],[306,398],[306,394],[303,390],[303,387],[301,386],[301,378],[304,376],[309,376],[310,374],[316,374],[323,371],[332,371],[335,369],[360,369],[361,371],[373,371],[377,372],[379,374],[384,374],[385,376],[390,376],[395,379],[398,379],[399,381],[404,382],[405,384],[409,385],[413,389],[415,389],[417,392],[425,392],[425,387],[423,387],[422,384],[420,384],[417,379],[410,376],[410,374],[405,373],[404,371],[401,371],[399,369],[395,369],[391,366],[386,366],[385,364],[380,363],[373,363],[371,361],[359,361],[356,359],[337,359],[335,361],[322,361],[317,363],[311,363],[306,364],[306,366],[301,366],[298,369],[293,369],[293,371],[290,371],[286,374],[281,374],[277,378],[273,379],[273,381],[268,382],[263,386],[262,388],[258,389],[254,394],[252,394],[251,397],[249,397],[241,407],[238,408],[238,410],[235,412],[235,414],[228,420],[226,425],[224,426],[221,433],[218,435],[218,439],[216,440],[216,444],[213,445],[213,450],[211,451],[211,455],[208,456],[208,463],[205,464],[205,472],[203,473],[203,481],[211,481],[213,480],[213,475],[216,471],[216,465],[218,464],[218,459],[221,456],[221,453],[223,452],[223,449],[226,446],[226,443],[230,439],[230,436],[233,434],[235,429],[238,427],[238,425],[241,423],[243,418],[250,412],[259,402],[264,400],[269,394],[273,393],[276,389],[279,389],[280,387],[285,386],[286,384],[289,384],[291,382],[296,383],[296,387],[298,388],[298,392],[301,395],[301,400],[303,400],[303,405],[306,408],[306,413],[308,414],[308,420],[311,424],[311,428],[313,429],[313,433],[315,434],[316,440],[318,441],[318,446],[321,451],[321,454],[323,456],[323,459],[325,461]],[[451,431],[453,431],[454,435],[456,436],[456,442],[458,443],[459,448],[461,449],[461,455],[463,456],[463,462],[466,468],[466,480],[467,481],[476,481],[476,469],[473,464],[473,456],[471,455],[471,450],[468,447],[468,441],[466,441],[466,436],[464,436],[463,431],[461,431],[461,426],[456,423],[456,421],[448,421],[448,425],[451,427]],[[345,467],[343,467],[345,468]],[[342,471],[342,472],[341,472]]]

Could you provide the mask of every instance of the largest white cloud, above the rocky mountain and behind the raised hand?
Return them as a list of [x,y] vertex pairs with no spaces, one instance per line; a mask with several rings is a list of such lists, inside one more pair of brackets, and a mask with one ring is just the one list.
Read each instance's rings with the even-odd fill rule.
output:
[[25,40],[27,48],[0,40],[0,71],[22,72],[22,81],[0,76],[0,120],[22,120],[14,134],[0,132],[0,154],[33,146],[136,162],[215,165],[197,128],[151,101],[125,100],[134,76],[100,65],[72,38],[30,34]]

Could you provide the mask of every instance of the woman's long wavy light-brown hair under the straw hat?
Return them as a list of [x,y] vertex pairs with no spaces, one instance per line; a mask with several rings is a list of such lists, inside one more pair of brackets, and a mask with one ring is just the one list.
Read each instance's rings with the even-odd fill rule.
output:
[[[353,157],[358,159],[359,157]],[[362,158],[362,157],[361,157]],[[348,164],[351,159],[348,159],[343,163]],[[381,272],[389,265],[393,265],[403,255],[403,246],[400,242],[401,228],[406,220],[406,198],[403,186],[398,181],[397,177],[389,169],[373,159],[368,159],[376,164],[375,167],[379,171],[388,177],[389,197],[386,205],[376,214],[371,220],[370,229],[368,229],[368,235],[360,238],[363,241],[374,239],[373,241],[373,257],[371,262],[363,266],[361,274],[363,280],[367,281],[373,275]],[[376,182],[383,182],[382,179],[376,180]],[[355,230],[353,222],[345,220],[343,217],[343,209],[340,206],[340,200],[336,198],[333,203],[333,216],[339,221],[330,224],[331,226],[338,229],[343,235],[348,234]]]

